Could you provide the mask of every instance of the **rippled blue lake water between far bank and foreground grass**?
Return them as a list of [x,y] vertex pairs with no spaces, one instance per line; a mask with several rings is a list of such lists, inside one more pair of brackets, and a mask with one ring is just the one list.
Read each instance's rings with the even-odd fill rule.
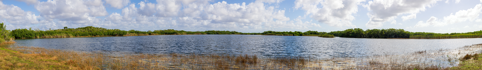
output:
[[482,43],[473,39],[361,39],[264,35],[153,35],[17,39],[18,46],[107,54],[225,53],[262,57],[313,56],[319,58],[402,55],[420,50],[454,50]]

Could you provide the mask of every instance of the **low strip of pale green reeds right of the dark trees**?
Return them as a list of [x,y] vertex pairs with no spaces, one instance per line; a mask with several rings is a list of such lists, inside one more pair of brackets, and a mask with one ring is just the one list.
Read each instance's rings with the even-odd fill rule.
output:
[[482,34],[455,34],[455,35],[411,35],[410,39],[462,39],[482,38]]

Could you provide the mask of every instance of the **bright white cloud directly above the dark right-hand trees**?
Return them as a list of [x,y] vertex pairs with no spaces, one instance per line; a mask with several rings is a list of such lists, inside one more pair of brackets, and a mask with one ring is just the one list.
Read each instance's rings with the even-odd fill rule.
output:
[[[402,14],[412,14],[415,18],[420,11],[425,11],[427,7],[432,7],[438,0],[374,0],[368,2],[367,15],[370,20],[365,24],[367,28],[375,29],[383,26],[384,22],[396,22],[397,16]],[[410,15],[409,15],[410,16]],[[402,17],[408,20],[411,17]]]

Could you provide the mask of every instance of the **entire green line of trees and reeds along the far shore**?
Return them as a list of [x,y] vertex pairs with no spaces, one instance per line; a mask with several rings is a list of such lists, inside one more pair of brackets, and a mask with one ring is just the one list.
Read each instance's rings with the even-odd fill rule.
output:
[[[6,26],[0,23],[0,42],[2,40],[13,40],[21,38],[69,38],[79,36],[135,36],[135,35],[186,35],[186,34],[243,34],[243,35],[279,35],[279,36],[319,36],[319,37],[344,37],[344,38],[416,38],[416,39],[440,39],[440,38],[476,38],[480,31],[466,33],[433,33],[433,32],[410,32],[403,29],[373,29],[362,30],[360,28],[347,29],[343,31],[318,32],[318,31],[264,31],[262,33],[242,33],[237,31],[184,31],[184,30],[119,30],[105,29],[99,27],[81,27],[67,28],[57,30],[39,30],[39,29],[15,29],[5,30]],[[463,35],[462,35],[463,34]],[[470,34],[470,35],[468,35]],[[322,36],[324,35],[324,36]],[[439,35],[439,36],[434,36]],[[440,36],[440,35],[457,35],[457,36]]]

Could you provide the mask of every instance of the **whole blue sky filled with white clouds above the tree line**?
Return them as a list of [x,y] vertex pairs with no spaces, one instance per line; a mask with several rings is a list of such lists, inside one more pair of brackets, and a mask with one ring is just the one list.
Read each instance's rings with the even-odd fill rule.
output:
[[482,0],[0,0],[7,30],[482,30]]

